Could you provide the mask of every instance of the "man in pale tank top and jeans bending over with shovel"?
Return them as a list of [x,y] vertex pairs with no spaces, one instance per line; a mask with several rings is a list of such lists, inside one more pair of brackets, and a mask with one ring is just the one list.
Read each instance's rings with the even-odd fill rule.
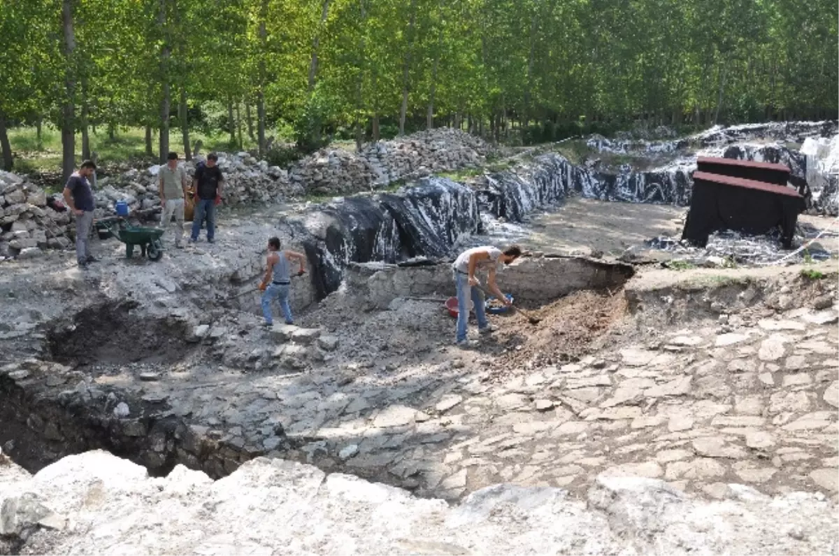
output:
[[522,250],[518,245],[511,245],[501,251],[490,245],[466,249],[461,253],[452,265],[455,272],[455,284],[457,286],[457,345],[468,345],[466,339],[466,323],[469,320],[469,300],[475,304],[475,316],[477,317],[478,332],[482,334],[492,332],[492,326],[487,322],[487,313],[484,307],[484,296],[481,289],[481,282],[477,280],[477,270],[487,270],[487,289],[498,300],[509,306],[510,301],[498,289],[495,283],[495,274],[498,265],[509,265],[519,258]]

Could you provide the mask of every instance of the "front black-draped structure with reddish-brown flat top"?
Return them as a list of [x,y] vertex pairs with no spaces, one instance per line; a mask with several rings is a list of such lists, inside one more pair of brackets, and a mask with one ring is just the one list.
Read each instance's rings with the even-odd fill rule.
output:
[[780,227],[784,249],[790,249],[804,210],[804,197],[787,186],[697,170],[682,239],[705,247],[717,230],[761,234]]

